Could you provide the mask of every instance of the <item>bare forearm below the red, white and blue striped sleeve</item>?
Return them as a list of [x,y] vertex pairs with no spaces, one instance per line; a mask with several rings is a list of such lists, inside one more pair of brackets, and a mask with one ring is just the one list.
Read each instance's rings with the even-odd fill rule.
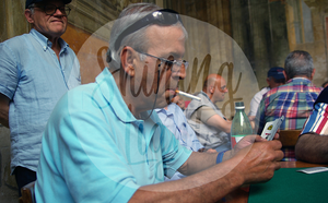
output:
[[303,134],[295,145],[295,155],[297,159],[309,163],[328,163],[328,136]]

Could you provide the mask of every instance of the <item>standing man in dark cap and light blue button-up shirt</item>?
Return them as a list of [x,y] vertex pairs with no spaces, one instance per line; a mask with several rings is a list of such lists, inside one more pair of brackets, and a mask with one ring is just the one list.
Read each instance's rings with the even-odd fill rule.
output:
[[42,134],[59,98],[81,83],[75,53],[60,38],[71,0],[26,0],[28,34],[0,44],[0,123],[10,128],[11,172],[36,179]]

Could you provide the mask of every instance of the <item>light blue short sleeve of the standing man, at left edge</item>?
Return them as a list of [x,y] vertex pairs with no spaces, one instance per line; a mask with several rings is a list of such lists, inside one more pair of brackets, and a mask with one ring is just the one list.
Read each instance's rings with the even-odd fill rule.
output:
[[17,59],[4,43],[0,44],[0,93],[12,99],[19,82]]

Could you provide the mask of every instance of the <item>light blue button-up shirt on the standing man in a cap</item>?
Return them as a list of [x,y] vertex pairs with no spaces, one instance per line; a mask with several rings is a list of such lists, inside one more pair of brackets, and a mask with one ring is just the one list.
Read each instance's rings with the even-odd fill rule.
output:
[[42,134],[59,98],[81,83],[73,50],[59,38],[58,60],[51,41],[35,29],[0,44],[0,93],[10,98],[11,170],[36,171]]

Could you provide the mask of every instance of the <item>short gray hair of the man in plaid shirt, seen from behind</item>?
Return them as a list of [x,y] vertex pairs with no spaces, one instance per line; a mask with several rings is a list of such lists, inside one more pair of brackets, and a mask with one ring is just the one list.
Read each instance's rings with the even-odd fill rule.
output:
[[303,50],[290,52],[284,61],[284,71],[289,79],[293,79],[297,75],[306,75],[311,79],[313,69],[311,55]]

